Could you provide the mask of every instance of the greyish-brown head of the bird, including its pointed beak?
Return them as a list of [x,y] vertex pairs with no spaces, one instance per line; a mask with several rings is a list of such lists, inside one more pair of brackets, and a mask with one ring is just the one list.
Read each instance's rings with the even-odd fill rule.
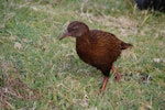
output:
[[62,36],[59,36],[59,40],[67,36],[74,36],[76,38],[81,37],[88,32],[89,32],[89,28],[85,23],[79,21],[74,21],[69,23],[69,25],[67,26],[67,31]]

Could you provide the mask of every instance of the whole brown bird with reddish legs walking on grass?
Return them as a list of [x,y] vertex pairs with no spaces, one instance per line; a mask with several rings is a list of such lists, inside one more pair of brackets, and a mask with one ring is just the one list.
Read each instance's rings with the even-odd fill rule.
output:
[[107,87],[111,76],[110,72],[114,74],[117,80],[120,80],[121,75],[116,73],[113,63],[119,58],[122,50],[132,47],[132,44],[119,40],[112,33],[90,30],[86,23],[80,21],[70,22],[66,32],[59,36],[59,40],[68,36],[76,38],[76,52],[79,58],[103,74],[105,77],[99,95]]

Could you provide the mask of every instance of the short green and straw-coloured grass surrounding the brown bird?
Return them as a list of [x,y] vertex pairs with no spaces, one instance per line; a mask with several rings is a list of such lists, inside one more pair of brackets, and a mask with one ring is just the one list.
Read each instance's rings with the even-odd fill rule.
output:
[[[0,108],[35,110],[163,110],[165,14],[131,0],[1,0]],[[82,63],[75,40],[58,36],[70,21],[88,23],[134,45],[114,64],[122,82]]]

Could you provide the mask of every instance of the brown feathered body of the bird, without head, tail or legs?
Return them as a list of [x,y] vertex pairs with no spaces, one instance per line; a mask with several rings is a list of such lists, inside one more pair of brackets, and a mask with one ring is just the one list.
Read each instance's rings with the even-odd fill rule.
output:
[[76,38],[76,51],[85,63],[97,67],[106,74],[120,56],[121,44],[127,45],[111,33],[90,30],[89,34],[81,38]]

